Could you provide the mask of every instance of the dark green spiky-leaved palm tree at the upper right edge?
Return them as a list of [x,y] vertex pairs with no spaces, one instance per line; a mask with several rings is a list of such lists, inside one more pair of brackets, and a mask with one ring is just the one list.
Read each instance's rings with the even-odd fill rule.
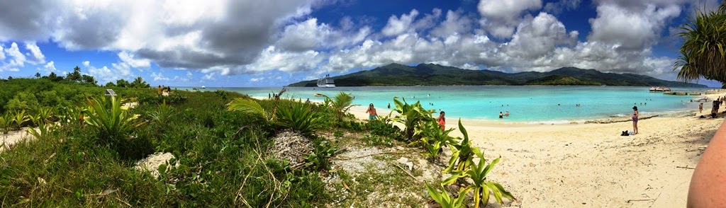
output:
[[[707,80],[726,83],[726,2],[716,11],[696,11],[696,18],[680,27],[684,38],[680,56],[673,65],[678,80]],[[726,85],[725,85],[726,87]]]

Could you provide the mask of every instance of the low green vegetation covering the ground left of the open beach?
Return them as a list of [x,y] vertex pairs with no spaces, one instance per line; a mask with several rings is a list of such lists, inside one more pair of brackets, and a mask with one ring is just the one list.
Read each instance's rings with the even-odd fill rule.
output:
[[[487,163],[484,154],[471,145],[461,122],[458,128],[464,138],[453,138],[449,133],[454,129],[441,129],[432,116],[434,110],[420,103],[393,99],[399,115],[361,122],[347,113],[353,99],[346,93],[313,104],[282,99],[285,89],[273,99],[256,100],[224,91],[174,91],[158,96],[146,86],[121,84],[125,85],[110,87],[118,94],[112,97],[102,95],[104,88],[63,78],[0,81],[0,87],[9,89],[0,92],[0,129],[4,133],[23,129],[34,138],[0,153],[1,203],[11,207],[335,207],[378,197],[369,196],[370,189],[414,207],[425,203],[427,190],[443,207],[472,203],[478,207],[488,202],[489,193],[499,203],[514,199],[503,186],[486,178],[499,159]],[[13,104],[4,105],[9,103]],[[311,146],[309,152],[298,155],[298,165],[269,151],[275,136],[289,131],[304,136]],[[407,144],[410,147],[402,147]],[[423,155],[435,167],[433,171],[451,177],[429,181],[437,186],[424,186],[422,180],[409,179],[420,177],[423,170],[394,165],[398,169],[356,176],[333,167],[333,160],[343,160],[338,154],[356,146],[408,149],[416,153],[409,157]],[[438,159],[446,149],[452,151],[451,159],[441,164]],[[174,158],[152,167],[158,175],[134,167],[139,159],[160,152]],[[391,152],[366,157],[399,159]],[[380,186],[381,181],[387,185]],[[454,194],[437,189],[446,190],[444,186],[452,184],[462,188]],[[341,195],[342,190],[347,194]],[[465,199],[469,192],[475,196],[472,200]]]

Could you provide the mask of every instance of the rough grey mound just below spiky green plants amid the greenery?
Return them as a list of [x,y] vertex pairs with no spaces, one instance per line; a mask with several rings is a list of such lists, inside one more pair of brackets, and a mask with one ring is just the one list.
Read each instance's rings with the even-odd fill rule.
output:
[[303,156],[307,156],[314,149],[309,138],[292,131],[278,133],[272,138],[272,141],[274,144],[269,150],[269,154],[280,159],[287,159],[291,167],[305,162]]

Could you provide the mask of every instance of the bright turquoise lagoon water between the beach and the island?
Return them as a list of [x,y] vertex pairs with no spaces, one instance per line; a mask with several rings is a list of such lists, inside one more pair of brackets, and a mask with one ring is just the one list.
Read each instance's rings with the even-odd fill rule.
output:
[[[216,91],[218,88],[206,88]],[[267,97],[278,88],[224,88],[249,96]],[[282,96],[293,99],[322,101],[314,96],[322,93],[335,96],[343,91],[355,96],[354,104],[372,103],[380,115],[387,115],[387,104],[393,97],[412,103],[420,101],[427,109],[443,110],[446,117],[494,122],[571,122],[629,117],[637,106],[641,115],[666,115],[698,109],[696,99],[703,96],[672,96],[650,93],[649,87],[613,86],[414,86],[414,87],[338,87],[288,88]],[[706,89],[673,88],[674,91],[705,91]],[[693,99],[693,102],[690,100]],[[642,103],[642,104],[641,104]],[[433,105],[431,105],[433,104]],[[558,104],[560,104],[558,106]],[[576,107],[581,104],[581,107]],[[708,107],[709,104],[704,104]],[[499,112],[510,116],[499,119]],[[385,114],[384,114],[385,112]]]

